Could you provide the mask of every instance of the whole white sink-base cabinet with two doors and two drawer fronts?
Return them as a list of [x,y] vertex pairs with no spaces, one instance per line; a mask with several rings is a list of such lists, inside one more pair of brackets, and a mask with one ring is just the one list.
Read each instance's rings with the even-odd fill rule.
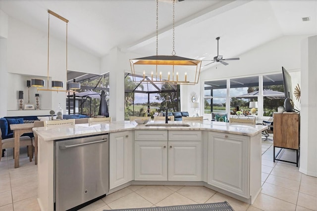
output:
[[201,181],[201,139],[201,131],[135,131],[135,180]]

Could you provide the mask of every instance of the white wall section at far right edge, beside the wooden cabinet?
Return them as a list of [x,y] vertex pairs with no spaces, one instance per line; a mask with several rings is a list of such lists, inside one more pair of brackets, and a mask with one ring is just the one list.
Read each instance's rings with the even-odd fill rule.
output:
[[317,177],[317,36],[302,41],[301,158],[299,171]]

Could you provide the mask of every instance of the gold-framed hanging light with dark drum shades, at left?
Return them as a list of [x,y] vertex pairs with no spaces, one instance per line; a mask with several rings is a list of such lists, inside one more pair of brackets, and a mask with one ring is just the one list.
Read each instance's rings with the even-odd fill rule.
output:
[[67,40],[68,40],[68,31],[67,31],[67,27],[68,27],[68,20],[58,14],[56,14],[55,12],[53,12],[52,10],[48,10],[49,13],[49,24],[48,24],[48,67],[47,67],[47,71],[48,71],[48,77],[47,77],[47,89],[41,89],[39,87],[44,87],[44,80],[41,79],[31,79],[31,86],[34,87],[38,87],[37,90],[38,91],[53,91],[53,92],[75,92],[76,89],[80,89],[80,84],[78,86],[78,84],[74,85],[75,88],[69,88],[70,90],[61,90],[63,88],[63,82],[62,81],[53,81],[52,80],[52,89],[49,89],[49,72],[50,72],[50,67],[49,67],[49,61],[50,61],[50,15],[53,15],[55,17],[57,17],[58,19],[64,21],[66,23],[66,81],[67,81],[67,53],[68,53],[68,49],[67,49]]

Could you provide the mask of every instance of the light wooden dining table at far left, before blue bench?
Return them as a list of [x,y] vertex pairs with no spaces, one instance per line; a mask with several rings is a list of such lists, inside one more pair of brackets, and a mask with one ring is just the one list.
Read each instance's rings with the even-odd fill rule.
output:
[[10,128],[11,130],[13,130],[14,133],[14,168],[18,168],[20,166],[20,136],[24,133],[32,133],[33,126],[34,123],[10,124]]

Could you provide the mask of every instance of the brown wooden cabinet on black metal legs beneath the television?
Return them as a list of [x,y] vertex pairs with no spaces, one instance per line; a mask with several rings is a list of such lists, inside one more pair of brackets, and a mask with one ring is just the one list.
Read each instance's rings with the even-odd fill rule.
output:
[[[300,115],[299,113],[284,112],[274,113],[273,124],[273,161],[280,160],[284,162],[296,163],[298,167],[298,160],[300,156]],[[275,147],[281,148],[277,155],[275,155]],[[296,151],[296,162],[277,159],[282,149],[289,149]]]

